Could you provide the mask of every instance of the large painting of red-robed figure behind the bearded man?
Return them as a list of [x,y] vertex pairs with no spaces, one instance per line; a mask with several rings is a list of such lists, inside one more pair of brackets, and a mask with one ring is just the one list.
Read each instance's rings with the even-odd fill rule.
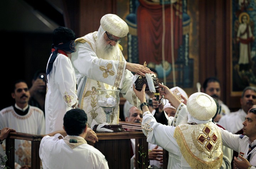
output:
[[155,69],[160,82],[192,88],[194,59],[189,58],[187,0],[130,0],[128,62]]

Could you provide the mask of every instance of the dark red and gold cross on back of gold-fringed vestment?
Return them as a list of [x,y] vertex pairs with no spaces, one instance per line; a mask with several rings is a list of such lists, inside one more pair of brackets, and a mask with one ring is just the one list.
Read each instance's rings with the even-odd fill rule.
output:
[[197,137],[197,141],[201,144],[203,144],[205,141],[207,142],[206,145],[204,146],[208,151],[211,151],[213,148],[213,144],[210,142],[212,141],[213,143],[216,143],[216,141],[218,140],[218,137],[215,135],[215,133],[213,133],[210,136],[211,133],[211,129],[206,125],[203,129],[203,133],[206,134],[206,136],[204,136],[203,134],[200,134]]

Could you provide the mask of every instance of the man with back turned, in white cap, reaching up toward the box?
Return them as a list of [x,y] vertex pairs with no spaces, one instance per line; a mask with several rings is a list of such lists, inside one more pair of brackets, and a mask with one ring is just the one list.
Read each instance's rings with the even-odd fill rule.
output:
[[142,91],[133,88],[142,102],[142,131],[147,141],[169,152],[168,169],[219,169],[223,156],[222,137],[220,129],[212,122],[217,111],[213,98],[197,92],[188,98],[185,105],[167,86],[160,84],[160,87],[164,89],[159,91],[160,95],[165,95],[177,111],[186,111],[188,120],[187,124],[176,127],[156,122],[148,107],[143,106],[146,101],[145,85]]

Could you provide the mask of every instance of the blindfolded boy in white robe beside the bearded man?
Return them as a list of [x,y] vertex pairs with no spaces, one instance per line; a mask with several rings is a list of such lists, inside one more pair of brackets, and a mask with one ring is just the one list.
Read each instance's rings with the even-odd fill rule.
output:
[[52,54],[46,68],[46,133],[61,130],[64,114],[78,106],[75,71],[69,58],[76,51],[75,33],[58,27],[53,30],[52,39]]

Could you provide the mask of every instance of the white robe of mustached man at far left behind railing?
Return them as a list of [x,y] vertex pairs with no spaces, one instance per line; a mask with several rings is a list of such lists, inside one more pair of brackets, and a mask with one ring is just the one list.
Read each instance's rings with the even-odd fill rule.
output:
[[[0,129],[5,127],[20,133],[46,134],[44,113],[41,109],[30,106],[28,113],[24,116],[18,115],[13,106],[6,107],[0,111]],[[5,149],[5,140],[2,144]],[[31,141],[15,140],[15,169],[22,165],[31,165]]]

